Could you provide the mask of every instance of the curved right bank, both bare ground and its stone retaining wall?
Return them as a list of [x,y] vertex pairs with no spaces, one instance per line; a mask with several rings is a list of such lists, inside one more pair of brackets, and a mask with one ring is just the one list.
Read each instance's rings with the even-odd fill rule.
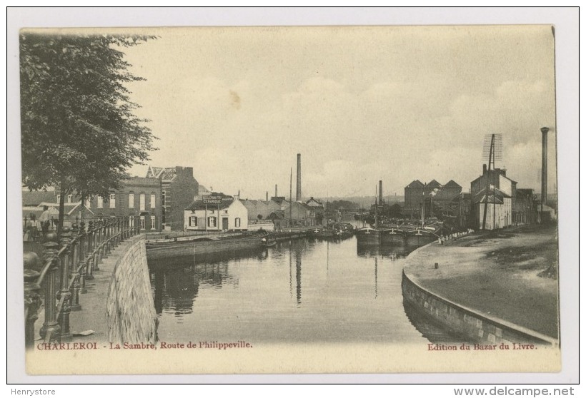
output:
[[525,226],[419,248],[405,262],[403,293],[470,340],[557,345],[558,284],[552,275],[557,229]]

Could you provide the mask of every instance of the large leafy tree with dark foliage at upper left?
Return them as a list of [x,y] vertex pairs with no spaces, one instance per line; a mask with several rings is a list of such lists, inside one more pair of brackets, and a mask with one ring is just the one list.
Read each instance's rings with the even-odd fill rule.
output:
[[156,149],[125,86],[144,79],[129,72],[121,51],[148,39],[21,32],[22,182],[59,187],[59,229],[66,195],[108,198],[126,169]]

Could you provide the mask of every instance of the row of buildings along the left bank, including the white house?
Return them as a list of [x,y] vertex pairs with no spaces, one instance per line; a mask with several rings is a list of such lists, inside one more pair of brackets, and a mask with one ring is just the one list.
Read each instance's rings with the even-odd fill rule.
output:
[[[200,192],[202,188],[202,192]],[[23,219],[59,218],[59,190],[23,190]],[[222,198],[207,205],[204,196]],[[241,200],[238,195],[209,193],[200,187],[193,168],[149,166],[145,177],[124,180],[107,197],[94,196],[81,203],[79,197],[64,198],[65,223],[112,216],[128,218],[141,230],[249,230],[281,229],[322,223],[324,206],[319,200]]]

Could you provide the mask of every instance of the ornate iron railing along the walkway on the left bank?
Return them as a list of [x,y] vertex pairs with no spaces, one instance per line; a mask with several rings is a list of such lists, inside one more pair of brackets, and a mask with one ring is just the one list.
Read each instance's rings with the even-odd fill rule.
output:
[[[80,293],[86,293],[86,281],[94,279],[99,262],[122,240],[139,233],[138,223],[129,218],[106,218],[84,221],[79,226],[64,227],[61,236],[49,232],[44,236],[43,258],[34,252],[24,254],[24,330],[25,346],[34,346],[35,322],[43,304],[44,323],[40,329],[43,342],[71,339],[69,317],[81,310]],[[41,263],[41,267],[39,267]]]

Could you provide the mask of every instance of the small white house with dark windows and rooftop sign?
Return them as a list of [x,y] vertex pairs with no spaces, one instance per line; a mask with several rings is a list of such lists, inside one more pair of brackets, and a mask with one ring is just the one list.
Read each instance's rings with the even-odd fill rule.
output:
[[206,206],[203,200],[194,200],[184,210],[185,230],[247,230],[248,210],[238,198],[224,197],[220,204]]

